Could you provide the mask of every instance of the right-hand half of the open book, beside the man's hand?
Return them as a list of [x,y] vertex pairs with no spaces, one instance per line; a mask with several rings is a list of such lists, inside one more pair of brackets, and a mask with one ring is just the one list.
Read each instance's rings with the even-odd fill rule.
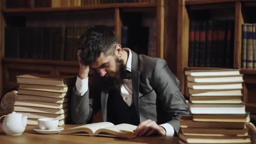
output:
[[130,139],[136,137],[133,133],[133,130],[135,130],[136,128],[136,125],[122,123],[108,128],[101,128],[95,132],[95,135],[108,136],[107,133],[109,133],[110,136],[116,135],[117,137],[120,138]]

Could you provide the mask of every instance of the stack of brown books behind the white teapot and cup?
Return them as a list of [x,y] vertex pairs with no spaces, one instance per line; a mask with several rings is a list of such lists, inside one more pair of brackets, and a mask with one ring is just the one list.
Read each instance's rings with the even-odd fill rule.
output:
[[28,125],[37,125],[37,119],[46,117],[59,119],[59,125],[67,123],[74,76],[33,74],[16,77],[19,88],[14,111],[30,113]]

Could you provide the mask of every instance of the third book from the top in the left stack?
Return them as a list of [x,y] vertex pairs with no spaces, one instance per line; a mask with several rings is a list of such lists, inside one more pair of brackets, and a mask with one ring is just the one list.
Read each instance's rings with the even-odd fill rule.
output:
[[54,98],[64,98],[71,95],[71,93],[55,93],[48,91],[34,91],[34,90],[23,90],[18,89],[19,95],[31,95],[31,96],[45,96],[45,97],[54,97]]

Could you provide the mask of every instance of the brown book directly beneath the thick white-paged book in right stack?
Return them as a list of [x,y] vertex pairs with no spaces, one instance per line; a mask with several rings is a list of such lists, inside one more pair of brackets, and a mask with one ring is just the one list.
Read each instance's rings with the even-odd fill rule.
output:
[[248,123],[250,122],[250,115],[246,114],[205,114],[205,115],[192,115],[194,121],[204,122],[237,122],[237,123]]

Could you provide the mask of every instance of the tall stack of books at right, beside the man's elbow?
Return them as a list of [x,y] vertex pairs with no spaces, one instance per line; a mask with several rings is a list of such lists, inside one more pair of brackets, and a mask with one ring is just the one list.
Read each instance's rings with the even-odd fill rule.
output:
[[239,69],[186,71],[189,110],[181,118],[180,144],[251,144]]

